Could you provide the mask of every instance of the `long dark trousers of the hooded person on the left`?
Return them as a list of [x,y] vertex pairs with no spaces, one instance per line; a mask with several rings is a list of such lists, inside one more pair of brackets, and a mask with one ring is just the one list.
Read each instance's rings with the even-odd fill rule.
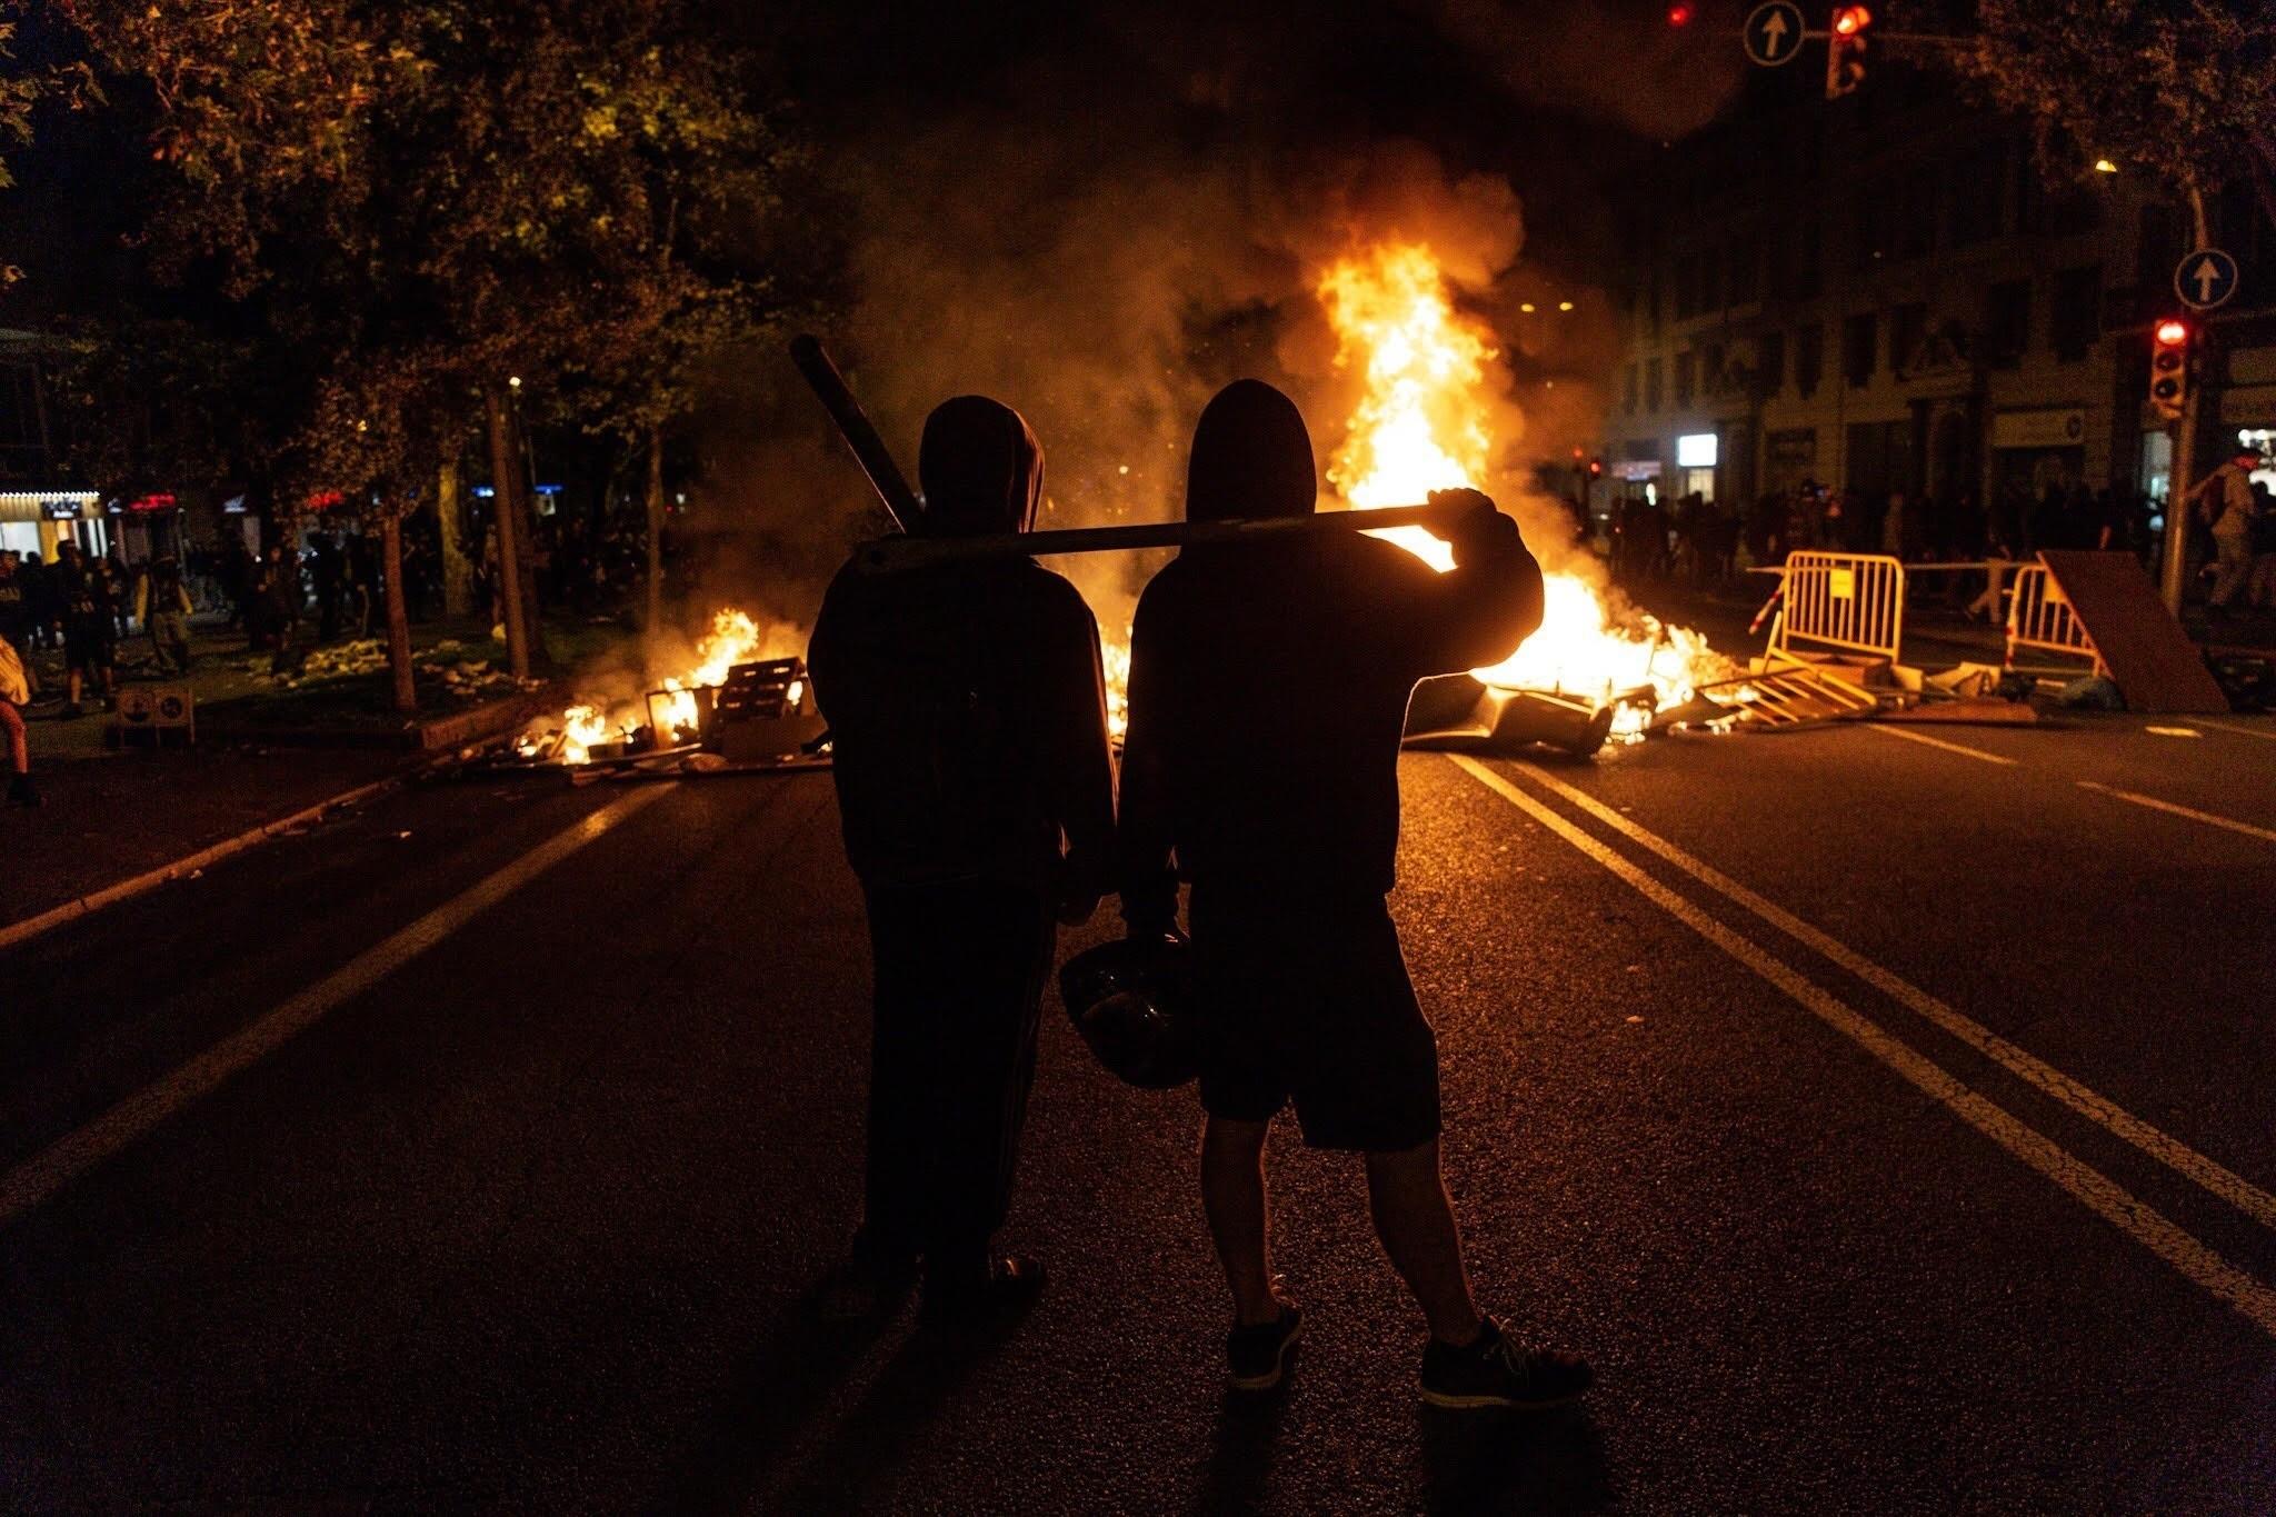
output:
[[1036,1021],[1052,971],[1049,901],[1015,885],[872,887],[867,1242],[979,1274],[1011,1205]]

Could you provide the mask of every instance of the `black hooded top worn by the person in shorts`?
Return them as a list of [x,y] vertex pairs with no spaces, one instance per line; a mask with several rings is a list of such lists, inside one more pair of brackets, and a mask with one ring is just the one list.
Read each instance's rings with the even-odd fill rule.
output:
[[[1202,412],[1186,516],[1302,516],[1311,437],[1240,380]],[[1484,498],[1479,498],[1484,500]],[[1122,753],[1120,885],[1133,932],[1177,880],[1302,898],[1384,894],[1400,837],[1400,737],[1418,680],[1493,664],[1541,623],[1541,569],[1482,509],[1434,573],[1359,532],[1186,548],[1138,600]]]

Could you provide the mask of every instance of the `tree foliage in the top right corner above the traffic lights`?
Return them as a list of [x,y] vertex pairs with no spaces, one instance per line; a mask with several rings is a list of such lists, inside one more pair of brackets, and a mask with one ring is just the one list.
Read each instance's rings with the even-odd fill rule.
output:
[[2276,9],[2267,0],[1976,0],[1953,64],[1982,98],[2037,125],[2039,164],[2076,177],[2096,157],[2176,193],[2276,166]]

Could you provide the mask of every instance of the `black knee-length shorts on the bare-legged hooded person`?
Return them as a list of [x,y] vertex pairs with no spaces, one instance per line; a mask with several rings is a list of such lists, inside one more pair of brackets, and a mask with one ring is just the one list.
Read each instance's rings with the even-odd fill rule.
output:
[[1438,1137],[1438,1039],[1377,894],[1290,901],[1193,887],[1202,1110],[1304,1144],[1395,1153]]

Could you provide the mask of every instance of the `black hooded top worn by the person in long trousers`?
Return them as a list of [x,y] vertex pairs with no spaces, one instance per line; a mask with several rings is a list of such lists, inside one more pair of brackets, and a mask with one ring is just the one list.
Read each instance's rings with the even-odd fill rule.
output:
[[[1042,498],[1042,448],[1011,407],[958,396],[926,418],[917,478],[926,532],[1017,532]],[[1106,685],[1099,625],[1072,585],[1033,559],[849,566],[806,660],[863,885],[997,880],[1049,894],[1061,837],[1077,889],[1106,885]]]

